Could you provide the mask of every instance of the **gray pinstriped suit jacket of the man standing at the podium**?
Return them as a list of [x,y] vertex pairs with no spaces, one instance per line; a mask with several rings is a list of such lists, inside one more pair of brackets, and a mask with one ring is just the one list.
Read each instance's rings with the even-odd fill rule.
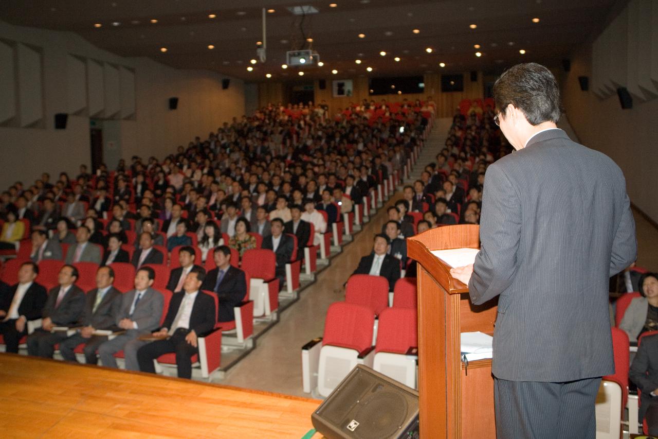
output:
[[468,284],[499,295],[493,375],[564,382],[611,374],[610,276],[636,258],[624,175],[559,129],[490,165]]

